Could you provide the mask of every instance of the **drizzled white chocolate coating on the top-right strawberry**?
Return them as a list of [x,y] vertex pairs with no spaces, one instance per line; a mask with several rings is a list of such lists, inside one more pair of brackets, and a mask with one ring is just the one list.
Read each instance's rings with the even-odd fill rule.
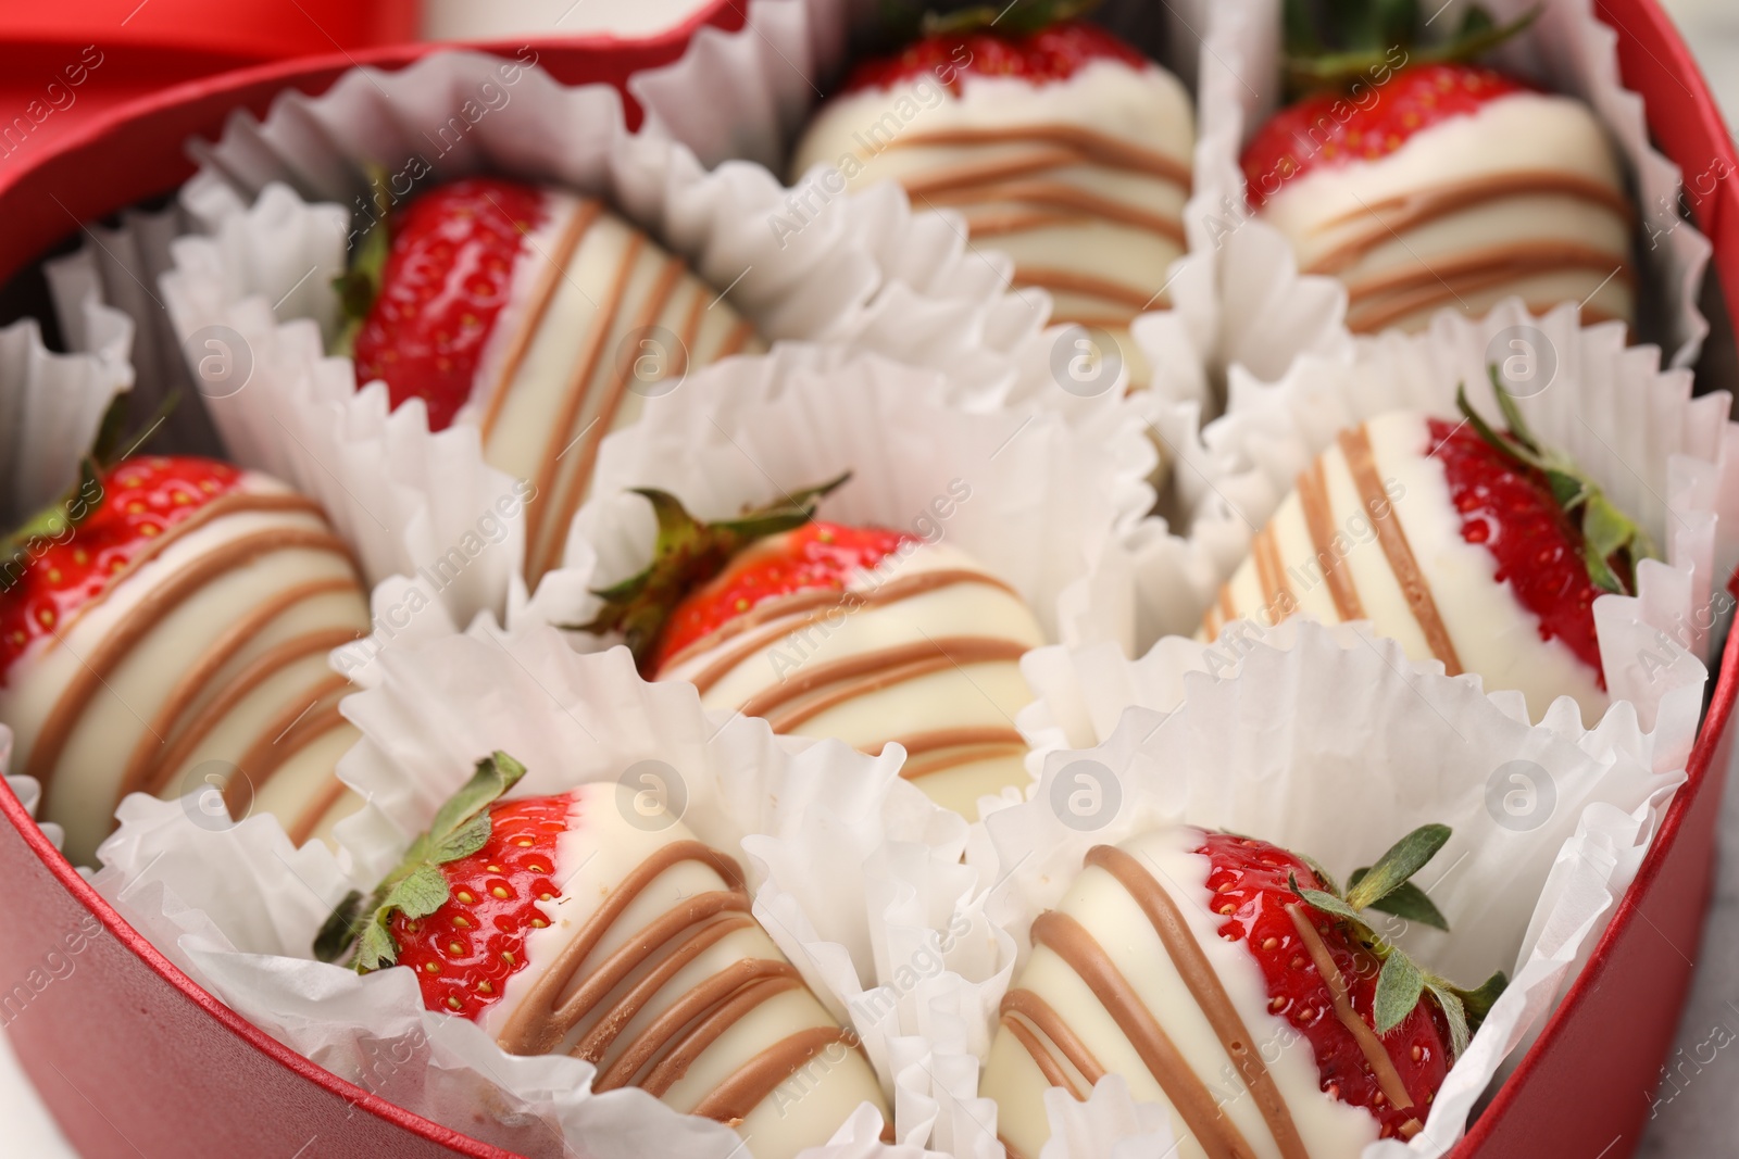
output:
[[1355,332],[1421,330],[1509,295],[1635,323],[1635,210],[1600,120],[1570,97],[1497,97],[1386,156],[1309,169],[1261,214],[1299,269],[1346,283]]

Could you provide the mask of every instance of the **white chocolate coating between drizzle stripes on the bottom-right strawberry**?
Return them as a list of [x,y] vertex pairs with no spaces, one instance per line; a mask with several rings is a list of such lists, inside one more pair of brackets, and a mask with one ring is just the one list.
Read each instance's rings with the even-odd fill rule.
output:
[[[1209,858],[1193,851],[1200,844],[1202,831],[1170,827],[1143,834],[1118,848],[1134,858],[1139,872],[1148,874],[1170,897],[1183,916],[1207,966],[1224,987],[1231,1010],[1249,1030],[1249,1044],[1254,1044],[1273,1079],[1306,1154],[1315,1159],[1358,1156],[1363,1145],[1376,1142],[1377,1121],[1365,1110],[1322,1091],[1309,1041],[1283,1017],[1268,1010],[1268,989],[1256,957],[1243,942],[1226,942],[1219,937],[1221,919],[1207,905]],[[1186,970],[1179,968],[1153,921],[1123,883],[1099,865],[1085,865],[1069,891],[1063,895],[1057,911],[1078,921],[1129,982],[1141,1006],[1177,1048],[1188,1072],[1205,1088],[1210,1112],[1217,1105],[1219,1114],[1243,1136],[1254,1156],[1278,1159],[1280,1143],[1263,1114],[1261,1100],[1249,1086],[1247,1074],[1235,1063],[1209,1013],[1196,1003],[1186,982]],[[1172,1119],[1172,1135],[1179,1140],[1177,1156],[1203,1159],[1209,1154],[1196,1131],[1167,1096],[1160,1077],[1137,1053],[1129,1034],[1129,1018],[1106,1010],[1057,950],[1045,944],[1035,945],[1010,994],[1016,990],[1036,996],[1056,1011],[1108,1074],[1123,1076],[1130,1095],[1165,1107]],[[1049,1062],[1063,1069],[1076,1096],[1085,1096],[1090,1086],[1068,1053],[1043,1029],[1005,1006],[979,1089],[996,1100],[996,1131],[1010,1145],[1010,1154],[1035,1159],[1050,1138],[1043,1093],[1052,1083],[1010,1023],[1028,1032],[1038,1050],[1049,1055]],[[1177,1076],[1167,1076],[1167,1083],[1170,1089],[1181,1089]]]

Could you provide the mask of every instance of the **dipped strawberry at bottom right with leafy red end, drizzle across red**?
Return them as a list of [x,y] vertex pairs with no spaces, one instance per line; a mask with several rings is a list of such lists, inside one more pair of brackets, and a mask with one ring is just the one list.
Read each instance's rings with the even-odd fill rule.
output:
[[1344,893],[1280,846],[1186,825],[1092,848],[1002,1003],[981,1089],[1010,1156],[1043,1149],[1047,1088],[1085,1100],[1104,1074],[1167,1109],[1181,1156],[1417,1135],[1504,978],[1457,989],[1365,911],[1447,928],[1409,879],[1449,836],[1409,834]]

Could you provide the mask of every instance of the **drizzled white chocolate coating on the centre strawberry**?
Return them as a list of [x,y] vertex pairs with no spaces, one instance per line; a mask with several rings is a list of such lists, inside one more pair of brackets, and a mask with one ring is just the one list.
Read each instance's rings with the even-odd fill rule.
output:
[[956,547],[913,544],[843,596],[814,598],[758,605],[751,627],[697,641],[659,679],[694,681],[706,707],[765,716],[774,732],[871,754],[897,742],[903,775],[969,820],[983,794],[1028,785],[1019,657],[1045,639],[1016,593]]

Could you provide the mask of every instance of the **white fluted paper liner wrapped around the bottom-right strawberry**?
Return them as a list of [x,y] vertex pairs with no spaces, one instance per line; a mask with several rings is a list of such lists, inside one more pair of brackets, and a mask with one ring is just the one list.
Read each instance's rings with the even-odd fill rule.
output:
[[[1136,699],[1116,705],[1097,747],[1052,749],[1031,801],[986,815],[995,853],[976,851],[977,867],[983,881],[1005,883],[988,912],[1024,957],[1033,916],[1056,905],[1090,846],[1160,824],[1224,827],[1320,855],[1343,881],[1400,834],[1450,825],[1433,864],[1452,872],[1428,869],[1426,879],[1456,935],[1414,926],[1398,937],[1445,977],[1471,985],[1504,970],[1511,983],[1424,1131],[1407,1145],[1376,1143],[1365,1157],[1445,1154],[1598,940],[1685,778],[1683,752],[1629,712],[1586,732],[1560,704],[1529,725],[1518,699],[1412,666],[1362,626],[1289,620],[1212,667],[1207,645],[1167,643],[1202,659],[1181,679],[1174,669],[1167,688],[1146,683],[1162,672],[1076,657],[1089,714],[1113,719],[1101,697],[1120,681]],[[1066,733],[1059,719],[1047,725]],[[1118,789],[1085,831],[1052,805],[1076,784],[1059,778],[1083,759]],[[1523,782],[1532,796],[1518,810],[1508,794]]]

